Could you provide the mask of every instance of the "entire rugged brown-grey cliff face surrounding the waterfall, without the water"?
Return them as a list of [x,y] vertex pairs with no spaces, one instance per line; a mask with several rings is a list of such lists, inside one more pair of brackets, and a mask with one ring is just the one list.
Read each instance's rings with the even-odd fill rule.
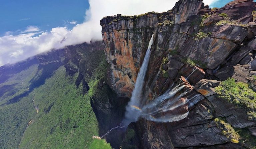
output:
[[236,0],[220,9],[209,9],[200,0],[180,0],[167,12],[118,14],[101,20],[111,85],[119,96],[131,97],[152,34],[154,42],[145,78],[145,96],[154,99],[180,80],[187,88],[193,88],[187,97],[204,96],[181,121],[159,124],[141,119],[132,123],[127,133],[134,130],[135,134],[124,139],[122,148],[129,145],[135,148],[242,146],[221,133],[214,122],[216,117],[224,117],[234,128],[248,127],[255,135],[256,123],[248,120],[246,112],[219,98],[214,90],[228,77],[253,82],[254,9],[252,0]]

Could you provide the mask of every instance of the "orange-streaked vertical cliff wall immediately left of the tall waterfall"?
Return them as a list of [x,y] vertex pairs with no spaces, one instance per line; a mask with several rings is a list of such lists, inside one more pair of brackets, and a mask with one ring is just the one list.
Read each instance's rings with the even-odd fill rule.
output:
[[159,17],[160,14],[152,12],[143,16],[128,18],[118,15],[101,20],[112,86],[120,96],[131,96],[139,66]]

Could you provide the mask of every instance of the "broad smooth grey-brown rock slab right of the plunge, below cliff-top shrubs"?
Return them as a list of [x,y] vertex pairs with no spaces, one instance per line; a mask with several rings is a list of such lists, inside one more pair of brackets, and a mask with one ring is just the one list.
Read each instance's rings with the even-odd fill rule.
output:
[[180,54],[192,60],[206,64],[207,68],[214,70],[217,68],[237,47],[232,41],[206,37],[195,40],[187,40],[182,46]]

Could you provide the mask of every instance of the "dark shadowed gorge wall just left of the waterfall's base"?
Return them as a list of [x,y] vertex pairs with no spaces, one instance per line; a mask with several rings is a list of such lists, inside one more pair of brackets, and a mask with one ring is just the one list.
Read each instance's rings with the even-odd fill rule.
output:
[[123,141],[126,128],[118,128],[110,133],[114,127],[120,126],[125,114],[125,107],[129,98],[118,97],[111,88],[103,83],[98,84],[95,95],[91,97],[91,106],[98,121],[99,135],[104,136],[112,148],[119,149]]

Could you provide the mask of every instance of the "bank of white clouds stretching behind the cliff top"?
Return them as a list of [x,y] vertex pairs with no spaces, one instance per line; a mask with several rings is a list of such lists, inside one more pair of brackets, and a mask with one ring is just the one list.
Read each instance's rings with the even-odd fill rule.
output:
[[[211,4],[217,0],[205,0]],[[150,11],[164,12],[172,9],[177,0],[89,0],[90,8],[85,12],[85,22],[72,30],[66,27],[52,28],[50,32],[39,32],[37,26],[27,26],[19,35],[8,32],[0,37],[0,66],[14,63],[30,56],[58,49],[67,45],[102,40],[100,20],[108,15],[138,15]],[[21,19],[22,20],[22,19]],[[76,21],[69,22],[75,24]]]

